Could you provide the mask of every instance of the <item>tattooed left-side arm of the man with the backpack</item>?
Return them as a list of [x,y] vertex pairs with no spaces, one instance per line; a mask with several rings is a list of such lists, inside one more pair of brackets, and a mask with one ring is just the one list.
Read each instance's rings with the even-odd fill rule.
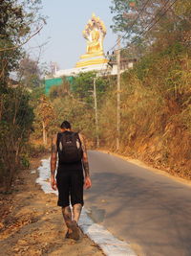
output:
[[57,161],[57,136],[53,137],[52,141],[52,151],[51,151],[51,186],[53,190],[56,190],[56,181],[55,181],[55,168]]

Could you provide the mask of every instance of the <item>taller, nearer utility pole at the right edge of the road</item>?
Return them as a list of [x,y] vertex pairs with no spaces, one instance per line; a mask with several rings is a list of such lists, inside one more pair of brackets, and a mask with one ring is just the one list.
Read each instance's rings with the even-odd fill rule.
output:
[[117,151],[120,146],[120,35],[117,39]]

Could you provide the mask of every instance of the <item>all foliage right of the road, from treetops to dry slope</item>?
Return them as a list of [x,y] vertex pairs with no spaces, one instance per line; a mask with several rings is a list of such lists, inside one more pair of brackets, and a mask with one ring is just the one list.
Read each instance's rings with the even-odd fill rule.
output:
[[[113,28],[127,43],[121,55],[138,58],[134,69],[121,76],[119,151],[191,178],[191,3],[136,2],[131,8],[129,1],[114,0],[112,7]],[[116,91],[111,90],[100,109],[101,138],[113,150],[116,104]]]

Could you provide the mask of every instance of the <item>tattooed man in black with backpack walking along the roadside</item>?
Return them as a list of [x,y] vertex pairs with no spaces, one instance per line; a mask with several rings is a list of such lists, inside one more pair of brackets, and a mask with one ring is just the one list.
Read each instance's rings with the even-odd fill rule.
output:
[[[57,205],[62,207],[64,221],[68,227],[66,238],[79,240],[81,231],[77,225],[84,204],[83,188],[92,186],[89,174],[88,155],[85,140],[80,133],[71,130],[71,124],[64,121],[52,143],[51,185],[58,189]],[[55,169],[58,153],[58,167]],[[85,180],[84,180],[84,175]],[[70,203],[73,207],[73,218]]]

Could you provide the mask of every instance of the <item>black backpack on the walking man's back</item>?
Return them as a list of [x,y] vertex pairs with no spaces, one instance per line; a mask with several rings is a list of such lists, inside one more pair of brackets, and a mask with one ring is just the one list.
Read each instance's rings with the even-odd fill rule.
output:
[[59,163],[74,163],[81,160],[83,151],[77,132],[64,131],[57,134]]

